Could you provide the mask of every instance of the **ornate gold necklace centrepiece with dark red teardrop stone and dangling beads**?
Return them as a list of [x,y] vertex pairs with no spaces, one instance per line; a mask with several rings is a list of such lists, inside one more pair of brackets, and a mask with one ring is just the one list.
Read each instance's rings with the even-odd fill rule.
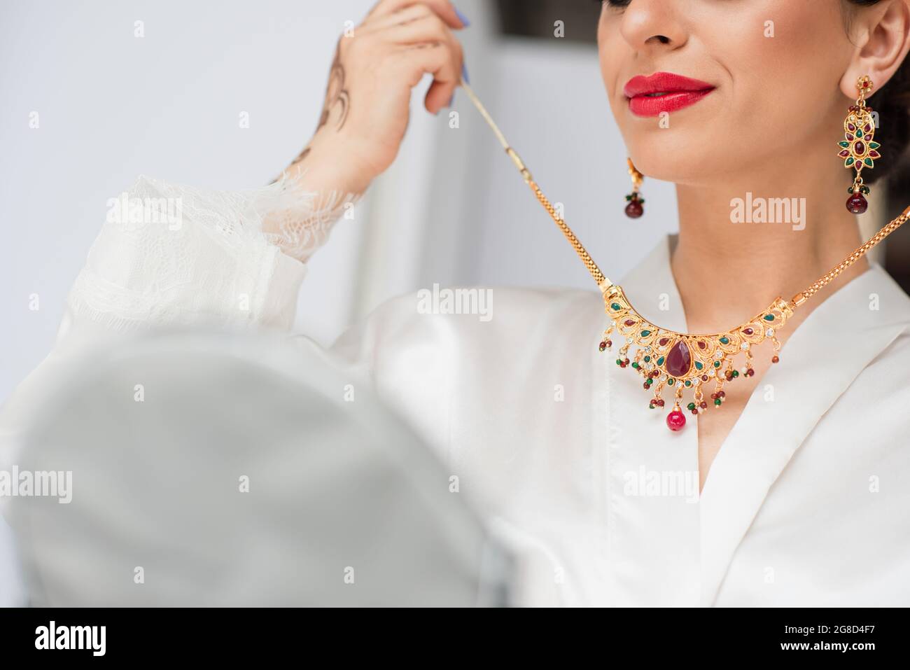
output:
[[[743,377],[754,375],[752,358],[756,345],[771,340],[772,362],[777,362],[776,354],[781,348],[777,330],[793,316],[795,307],[793,302],[778,298],[767,310],[732,330],[697,335],[666,330],[645,320],[632,308],[619,286],[611,285],[603,289],[603,298],[611,324],[603,333],[600,350],[607,349],[607,343],[612,346],[610,336],[614,331],[617,339],[620,336],[625,339],[618,351],[616,364],[621,368],[632,368],[642,375],[643,388],[651,391],[653,396],[649,408],[663,407],[663,391],[672,391],[673,409],[666,422],[673,432],[682,431],[686,424],[685,413],[681,409],[685,393],[692,393],[692,401],[686,409],[693,416],[699,416],[712,406],[718,409],[723,405],[725,384],[741,374]],[[737,368],[735,361],[741,356],[743,364]],[[706,393],[710,395],[713,405],[704,399]]]

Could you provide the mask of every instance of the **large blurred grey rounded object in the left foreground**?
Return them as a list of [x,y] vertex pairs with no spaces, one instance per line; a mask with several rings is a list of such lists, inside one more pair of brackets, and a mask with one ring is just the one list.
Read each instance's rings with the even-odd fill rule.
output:
[[308,340],[70,362],[19,468],[72,472],[72,501],[6,501],[31,604],[505,604],[511,558],[440,462]]

